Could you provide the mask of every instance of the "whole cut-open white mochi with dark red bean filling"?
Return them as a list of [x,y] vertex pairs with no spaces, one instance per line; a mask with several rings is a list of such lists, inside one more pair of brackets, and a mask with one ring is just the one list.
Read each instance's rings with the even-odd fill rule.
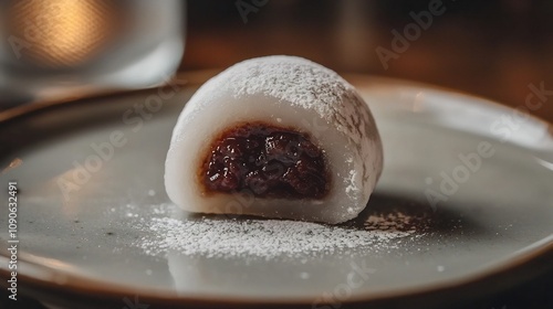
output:
[[295,56],[238,63],[205,83],[173,131],[165,187],[186,211],[341,223],[383,169],[375,120],[335,72]]

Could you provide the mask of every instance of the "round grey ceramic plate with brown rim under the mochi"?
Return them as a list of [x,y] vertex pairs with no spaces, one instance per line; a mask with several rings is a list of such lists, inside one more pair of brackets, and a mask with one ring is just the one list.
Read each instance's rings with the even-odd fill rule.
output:
[[[152,306],[320,308],[330,300],[429,307],[501,289],[551,266],[538,264],[553,249],[553,138],[546,124],[448,90],[347,79],[374,111],[385,169],[362,217],[341,228],[362,231],[369,216],[404,213],[413,217],[403,230],[408,236],[305,256],[148,253],[153,245],[145,242],[163,236],[148,230],[155,217],[205,220],[163,205],[169,202],[163,170],[170,131],[198,85],[173,96],[165,88],[76,99],[0,117],[0,201],[8,200],[9,181],[19,190],[20,291],[48,303],[116,308],[135,297]],[[134,106],[153,97],[161,98],[161,109],[138,117]],[[76,179],[75,167],[96,153],[92,145],[109,141],[114,131],[126,143]],[[60,179],[75,187],[64,192]],[[438,202],[429,204],[429,195]],[[2,247],[7,221],[2,211]],[[371,235],[386,233],[384,227]],[[9,256],[1,254],[6,285]],[[362,276],[356,267],[371,270]]]

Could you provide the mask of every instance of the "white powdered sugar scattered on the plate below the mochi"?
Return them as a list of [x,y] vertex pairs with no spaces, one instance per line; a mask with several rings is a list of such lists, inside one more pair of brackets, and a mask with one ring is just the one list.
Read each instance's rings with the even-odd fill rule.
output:
[[[355,248],[377,253],[397,247],[401,238],[417,236],[415,230],[376,230],[374,225],[358,230],[286,220],[175,217],[179,212],[173,204],[154,206],[152,216],[142,217],[135,225],[145,234],[135,245],[152,256],[170,251],[189,256],[270,259],[320,256]],[[409,217],[401,214],[399,219]]]

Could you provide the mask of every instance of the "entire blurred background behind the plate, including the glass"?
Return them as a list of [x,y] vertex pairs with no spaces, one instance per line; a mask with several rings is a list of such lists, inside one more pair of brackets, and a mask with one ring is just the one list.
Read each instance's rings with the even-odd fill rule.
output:
[[[0,104],[290,54],[518,107],[553,89],[552,15],[549,0],[6,0]],[[532,113],[553,121],[550,102]]]

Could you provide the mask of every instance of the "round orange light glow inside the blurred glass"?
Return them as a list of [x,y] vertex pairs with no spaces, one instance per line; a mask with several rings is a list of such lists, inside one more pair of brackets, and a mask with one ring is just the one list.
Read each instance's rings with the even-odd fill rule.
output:
[[113,9],[105,0],[20,0],[9,11],[22,51],[40,66],[83,64],[106,43]]

